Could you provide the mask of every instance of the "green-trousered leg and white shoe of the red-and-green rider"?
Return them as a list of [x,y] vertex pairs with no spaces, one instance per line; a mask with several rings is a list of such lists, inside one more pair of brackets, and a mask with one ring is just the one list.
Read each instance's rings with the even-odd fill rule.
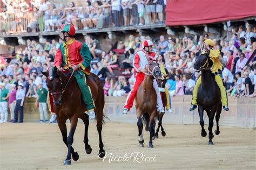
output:
[[[78,72],[81,73],[82,77],[80,77],[80,74]],[[85,74],[80,70],[78,72],[74,72],[73,76],[76,77],[79,89],[81,90],[82,98],[86,105],[86,110],[90,112],[90,114],[92,114],[91,116],[89,115],[90,118],[93,118],[95,117],[95,113],[94,113],[95,104],[92,100],[91,91],[89,87],[86,85]]]

